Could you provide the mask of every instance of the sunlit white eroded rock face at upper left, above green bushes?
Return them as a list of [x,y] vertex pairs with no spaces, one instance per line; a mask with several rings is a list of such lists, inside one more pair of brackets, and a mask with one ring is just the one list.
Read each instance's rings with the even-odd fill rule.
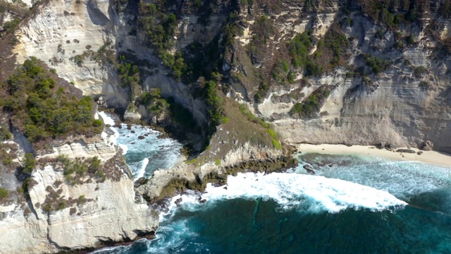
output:
[[118,17],[109,0],[39,4],[33,17],[16,32],[17,61],[23,63],[28,56],[36,56],[84,95],[102,96],[109,107],[127,107],[127,92],[119,84],[116,71],[99,65],[87,54],[116,43],[115,23]]

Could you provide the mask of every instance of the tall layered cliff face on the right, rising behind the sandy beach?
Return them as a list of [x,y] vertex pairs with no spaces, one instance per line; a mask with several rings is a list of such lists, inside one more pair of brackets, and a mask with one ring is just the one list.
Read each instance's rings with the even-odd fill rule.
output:
[[[257,1],[242,8],[244,32],[237,37],[239,43],[234,45],[230,63],[236,66],[231,76],[233,89],[240,94],[237,98],[249,101],[256,114],[273,121],[288,143],[421,147],[425,140],[431,140],[434,149],[450,152],[450,58],[443,50],[449,20],[436,8],[443,3],[428,2],[422,18],[396,25],[374,20],[368,3],[322,2],[316,1],[316,6],[309,8],[307,4],[283,1],[277,10],[261,11],[263,1]],[[412,6],[417,5],[412,1]],[[404,11],[400,6],[390,7],[395,11],[385,7],[385,11],[395,17],[408,16],[412,6],[404,7]],[[383,4],[375,7],[379,13],[383,8]],[[267,31],[265,42],[271,54],[264,56],[252,48],[257,32],[261,32],[261,26],[255,25],[261,15],[269,17],[268,24],[274,28]],[[347,44],[339,45],[345,61],[338,59],[331,68],[328,59],[321,65],[321,54],[335,56],[337,52],[321,51],[320,44],[334,40],[331,35],[337,28],[347,40]],[[286,57],[292,55],[290,42],[303,32],[311,38],[310,59],[323,70],[309,75],[309,66],[290,66],[293,78],[288,82],[278,77],[275,63],[286,59],[291,65],[290,57]],[[380,70],[370,67],[374,59],[381,60],[376,63]],[[249,82],[260,75],[254,73],[271,80],[271,88],[257,102],[254,95],[259,84]],[[305,104],[322,85],[330,85],[330,95],[320,102],[319,111],[307,117],[293,116],[293,106]]]

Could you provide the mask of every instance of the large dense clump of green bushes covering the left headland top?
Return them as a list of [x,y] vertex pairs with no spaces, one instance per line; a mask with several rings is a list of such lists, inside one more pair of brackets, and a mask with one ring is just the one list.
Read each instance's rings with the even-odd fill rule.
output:
[[98,124],[94,126],[92,98],[80,99],[66,92],[35,57],[17,68],[6,87],[4,111],[13,113],[13,125],[32,143],[102,131]]

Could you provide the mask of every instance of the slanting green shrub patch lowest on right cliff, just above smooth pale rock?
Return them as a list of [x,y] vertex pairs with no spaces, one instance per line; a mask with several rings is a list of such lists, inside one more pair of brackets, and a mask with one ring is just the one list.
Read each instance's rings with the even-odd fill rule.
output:
[[326,86],[319,87],[304,102],[296,103],[290,110],[290,115],[302,118],[315,117],[329,95],[330,90]]

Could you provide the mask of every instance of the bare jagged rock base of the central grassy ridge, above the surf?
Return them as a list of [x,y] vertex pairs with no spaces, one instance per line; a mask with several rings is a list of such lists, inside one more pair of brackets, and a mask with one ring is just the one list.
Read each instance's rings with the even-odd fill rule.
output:
[[[202,160],[202,155],[199,158]],[[277,163],[279,161],[280,163]],[[268,164],[265,165],[265,162]],[[242,165],[243,163],[246,165]],[[282,165],[285,167],[293,165],[290,159],[285,159],[283,150],[245,143],[230,150],[223,159],[216,162],[210,159],[205,163],[190,162],[172,169],[155,171],[149,181],[137,188],[137,192],[146,200],[154,202],[186,188],[203,191],[206,183],[223,183],[227,175],[234,174],[235,171],[252,169],[265,172],[268,168],[274,171],[282,169]]]

